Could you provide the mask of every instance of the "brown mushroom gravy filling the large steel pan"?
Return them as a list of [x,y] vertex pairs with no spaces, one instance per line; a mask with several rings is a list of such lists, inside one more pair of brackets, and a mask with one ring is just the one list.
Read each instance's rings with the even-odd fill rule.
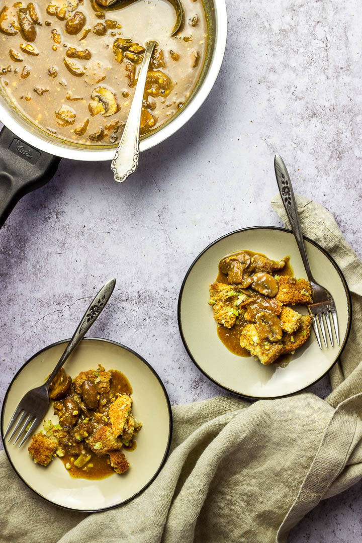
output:
[[[100,2],[101,3],[101,2]],[[15,108],[62,140],[116,144],[135,92],[145,45],[157,47],[145,86],[141,134],[181,111],[206,58],[202,0],[182,0],[175,36],[166,0],[14,2],[0,7],[0,82]]]

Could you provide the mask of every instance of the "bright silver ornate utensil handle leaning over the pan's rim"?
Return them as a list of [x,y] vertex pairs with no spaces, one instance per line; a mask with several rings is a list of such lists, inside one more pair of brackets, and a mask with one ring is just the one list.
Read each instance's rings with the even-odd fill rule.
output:
[[147,78],[148,65],[156,43],[156,41],[147,42],[130,112],[122,137],[118,143],[115,157],[112,160],[111,168],[113,174],[115,174],[115,181],[120,183],[125,181],[138,167],[139,124],[141,123],[144,86]]

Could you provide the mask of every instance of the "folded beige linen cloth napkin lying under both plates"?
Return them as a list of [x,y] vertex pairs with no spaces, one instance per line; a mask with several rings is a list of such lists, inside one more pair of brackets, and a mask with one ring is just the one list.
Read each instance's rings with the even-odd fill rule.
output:
[[[306,198],[297,204],[303,232],[332,255],[352,293],[352,331],[327,399],[303,392],[175,406],[172,452],[153,484],[88,516],[43,502],[2,454],[1,541],[282,543],[320,500],[362,477],[362,263],[328,211]],[[272,206],[289,226],[279,197]]]

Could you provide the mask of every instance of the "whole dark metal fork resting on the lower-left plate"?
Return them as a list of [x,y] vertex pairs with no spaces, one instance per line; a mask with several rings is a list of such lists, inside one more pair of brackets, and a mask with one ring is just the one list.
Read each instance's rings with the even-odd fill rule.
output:
[[25,432],[22,440],[20,441],[20,448],[24,441],[28,439],[31,432],[33,432],[33,430],[35,430],[35,428],[40,424],[49,407],[50,383],[53,381],[55,375],[65,363],[71,352],[75,349],[75,347],[77,347],[80,340],[90,329],[94,321],[99,317],[100,312],[103,310],[107,301],[110,299],[115,285],[116,280],[112,279],[100,289],[97,296],[94,298],[91,305],[88,307],[87,311],[83,315],[77,327],[77,330],[75,330],[72,339],[70,340],[65,351],[60,357],[58,364],[56,364],[54,370],[47,378],[47,381],[41,387],[36,387],[32,390],[29,390],[29,392],[27,392],[26,395],[24,395],[20,400],[17,408],[15,409],[14,415],[12,415],[8,427],[5,430],[3,439],[7,437],[7,434],[10,432],[12,426],[14,426],[15,424],[15,421],[18,419],[14,428],[12,428],[9,441],[12,439],[16,431],[20,428],[20,431],[18,432],[14,440],[15,445],[18,439],[20,439],[23,432]]

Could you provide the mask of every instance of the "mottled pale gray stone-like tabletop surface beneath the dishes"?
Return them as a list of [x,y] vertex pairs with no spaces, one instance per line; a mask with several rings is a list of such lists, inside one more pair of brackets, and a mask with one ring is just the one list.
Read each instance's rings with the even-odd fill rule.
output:
[[[362,254],[361,29],[357,0],[228,0],[228,42],[194,118],[141,157],[124,185],[109,163],[63,160],[0,231],[2,397],[24,361],[71,336],[93,289],[117,287],[92,334],[156,368],[172,403],[223,394],[190,362],[177,296],[194,257],[237,228],[280,225],[280,153],[297,193],[335,216]],[[313,387],[326,396],[328,379]],[[289,541],[361,541],[362,484],[322,502]]]

